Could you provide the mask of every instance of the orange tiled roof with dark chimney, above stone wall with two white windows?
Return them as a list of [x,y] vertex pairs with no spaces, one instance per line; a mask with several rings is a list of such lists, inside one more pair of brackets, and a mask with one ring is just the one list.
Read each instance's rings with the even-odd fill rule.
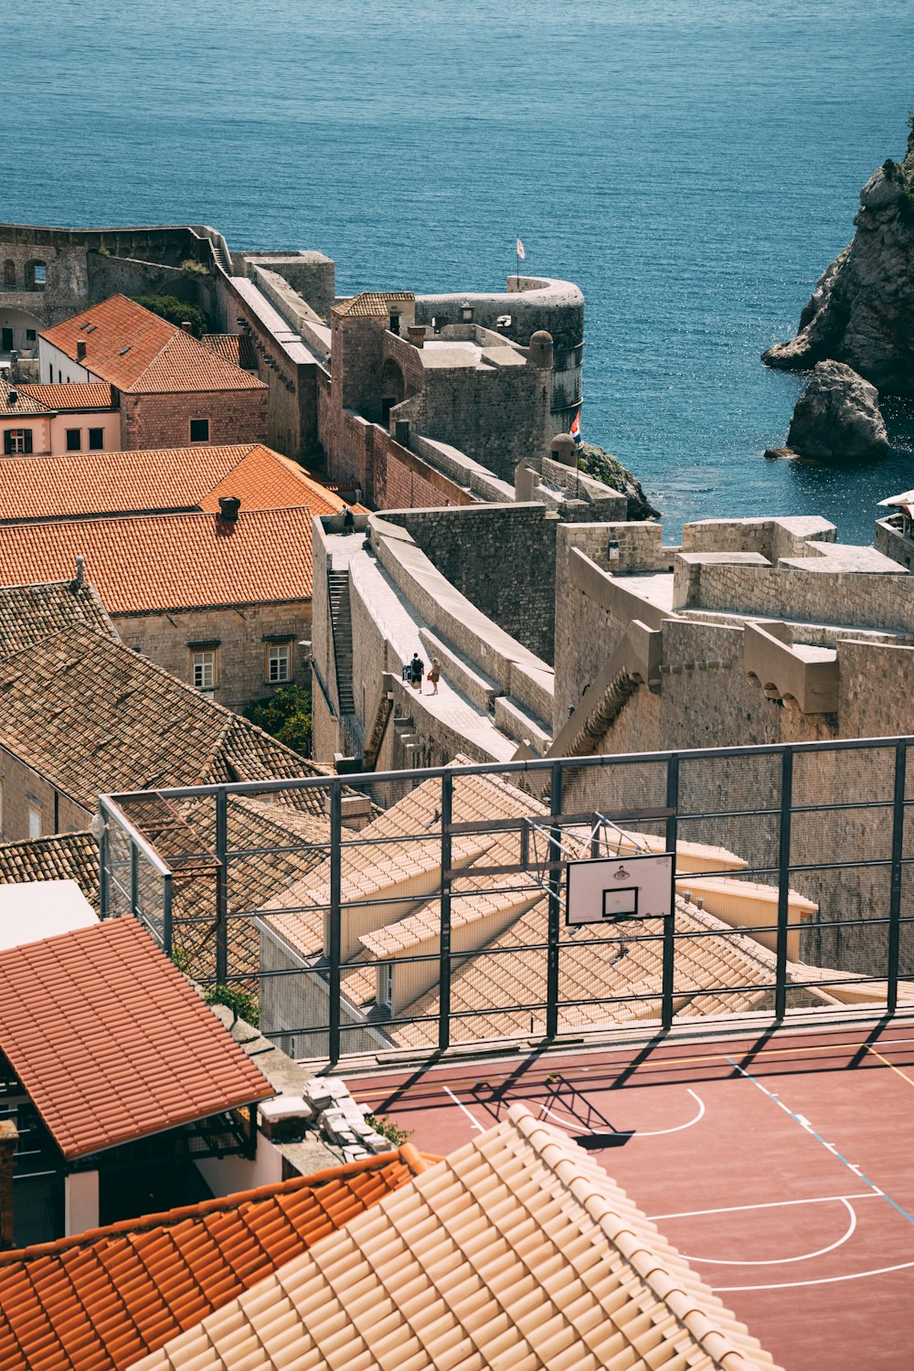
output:
[[77,557],[110,614],[308,600],[311,510],[0,526],[0,584],[62,580]]

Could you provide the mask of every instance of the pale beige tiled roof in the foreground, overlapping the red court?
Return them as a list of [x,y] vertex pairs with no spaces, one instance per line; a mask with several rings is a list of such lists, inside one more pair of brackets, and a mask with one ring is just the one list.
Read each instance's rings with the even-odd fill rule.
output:
[[574,1141],[523,1105],[136,1371],[773,1371]]

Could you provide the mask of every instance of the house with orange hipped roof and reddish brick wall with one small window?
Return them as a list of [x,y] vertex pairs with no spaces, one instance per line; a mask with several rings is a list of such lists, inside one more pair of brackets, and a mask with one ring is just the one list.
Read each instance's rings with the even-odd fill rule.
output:
[[266,437],[263,381],[123,295],[44,329],[38,370],[45,385],[107,383],[119,409],[121,448]]

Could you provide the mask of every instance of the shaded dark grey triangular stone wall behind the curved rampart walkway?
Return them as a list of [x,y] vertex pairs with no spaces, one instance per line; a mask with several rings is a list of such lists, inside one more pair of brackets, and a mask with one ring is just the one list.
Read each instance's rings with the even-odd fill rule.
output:
[[473,505],[456,515],[422,509],[384,517],[406,528],[471,605],[551,662],[558,521],[544,514],[541,505]]

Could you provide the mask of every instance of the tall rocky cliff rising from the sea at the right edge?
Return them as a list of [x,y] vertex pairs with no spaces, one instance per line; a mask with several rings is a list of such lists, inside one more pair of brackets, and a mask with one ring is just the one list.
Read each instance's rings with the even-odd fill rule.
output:
[[847,362],[880,391],[914,395],[914,118],[903,163],[884,162],[861,191],[856,233],[819,277],[800,332],[762,361],[808,370]]

